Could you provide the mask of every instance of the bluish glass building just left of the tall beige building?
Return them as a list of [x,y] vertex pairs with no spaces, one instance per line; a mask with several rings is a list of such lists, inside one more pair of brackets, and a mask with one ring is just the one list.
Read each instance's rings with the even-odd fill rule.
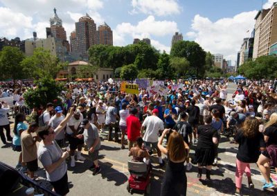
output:
[[239,66],[241,66],[243,63],[248,61],[249,59],[252,59],[253,57],[253,37],[247,37],[243,39],[242,46],[240,48],[240,62]]

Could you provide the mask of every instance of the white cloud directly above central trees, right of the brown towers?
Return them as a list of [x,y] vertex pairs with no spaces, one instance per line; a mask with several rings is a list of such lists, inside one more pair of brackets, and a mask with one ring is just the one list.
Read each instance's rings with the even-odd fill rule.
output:
[[[120,23],[114,30],[114,45],[125,46],[129,44],[126,42],[126,37],[143,39],[148,37],[164,37],[166,35],[173,35],[174,32],[179,31],[175,21],[156,21],[153,16],[149,16],[143,21],[139,21],[137,25],[131,23]],[[158,50],[166,50],[169,52],[170,48],[159,43],[159,41],[152,40],[152,45]]]

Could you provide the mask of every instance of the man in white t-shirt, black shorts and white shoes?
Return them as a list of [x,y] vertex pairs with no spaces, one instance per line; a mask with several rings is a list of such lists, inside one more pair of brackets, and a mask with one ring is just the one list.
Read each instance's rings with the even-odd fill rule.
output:
[[71,167],[75,167],[75,150],[78,149],[77,159],[80,161],[84,161],[85,158],[82,157],[82,145],[84,144],[84,138],[82,133],[78,133],[80,130],[80,124],[83,120],[82,113],[79,109],[74,112],[73,117],[69,120],[66,127],[66,136],[69,140],[69,148],[71,156]]

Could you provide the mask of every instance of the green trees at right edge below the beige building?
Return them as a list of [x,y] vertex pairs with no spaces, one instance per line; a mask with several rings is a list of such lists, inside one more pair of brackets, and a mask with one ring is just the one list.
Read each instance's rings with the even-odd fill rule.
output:
[[277,77],[277,58],[262,56],[255,61],[250,59],[240,66],[238,72],[249,79],[274,79]]

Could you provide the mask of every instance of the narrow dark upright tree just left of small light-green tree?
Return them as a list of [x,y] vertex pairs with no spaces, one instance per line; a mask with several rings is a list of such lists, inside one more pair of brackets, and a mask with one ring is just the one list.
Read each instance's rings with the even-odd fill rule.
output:
[[157,68],[157,77],[159,79],[171,79],[172,70],[170,70],[170,55],[163,52],[159,57]]

